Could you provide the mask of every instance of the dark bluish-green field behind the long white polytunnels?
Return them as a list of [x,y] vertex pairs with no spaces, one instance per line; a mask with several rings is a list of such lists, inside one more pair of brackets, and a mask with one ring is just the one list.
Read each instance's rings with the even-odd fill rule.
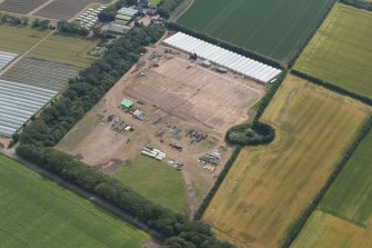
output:
[[195,0],[178,23],[288,62],[332,0]]

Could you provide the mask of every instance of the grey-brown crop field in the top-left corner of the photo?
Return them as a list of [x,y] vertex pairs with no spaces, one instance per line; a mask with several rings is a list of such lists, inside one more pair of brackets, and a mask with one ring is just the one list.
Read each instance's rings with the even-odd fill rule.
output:
[[29,13],[44,2],[47,0],[4,0],[0,3],[0,10],[14,13]]

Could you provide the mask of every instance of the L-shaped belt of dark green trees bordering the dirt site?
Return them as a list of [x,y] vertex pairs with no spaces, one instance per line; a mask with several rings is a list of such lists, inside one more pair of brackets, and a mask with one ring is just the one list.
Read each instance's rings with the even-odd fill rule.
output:
[[161,236],[164,247],[233,247],[215,239],[209,225],[188,221],[175,214],[141,197],[130,187],[53,149],[59,140],[87,113],[103,95],[164,33],[161,26],[135,27],[125,38],[120,38],[107,54],[90,68],[69,80],[69,88],[51,103],[22,133],[13,137],[20,141],[19,156],[43,167],[64,180],[74,183],[128,212]]

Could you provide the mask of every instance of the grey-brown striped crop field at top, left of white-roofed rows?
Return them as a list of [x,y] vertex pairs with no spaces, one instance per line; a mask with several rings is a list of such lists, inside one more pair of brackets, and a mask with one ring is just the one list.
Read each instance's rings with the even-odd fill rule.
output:
[[51,3],[47,4],[44,8],[40,9],[34,13],[34,16],[57,19],[57,20],[69,20],[89,3],[93,2],[92,0],[54,0]]

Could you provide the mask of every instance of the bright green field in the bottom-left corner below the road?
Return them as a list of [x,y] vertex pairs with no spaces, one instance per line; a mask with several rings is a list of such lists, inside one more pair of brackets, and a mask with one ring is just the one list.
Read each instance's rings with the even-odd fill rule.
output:
[[1,247],[141,247],[149,236],[0,156]]

